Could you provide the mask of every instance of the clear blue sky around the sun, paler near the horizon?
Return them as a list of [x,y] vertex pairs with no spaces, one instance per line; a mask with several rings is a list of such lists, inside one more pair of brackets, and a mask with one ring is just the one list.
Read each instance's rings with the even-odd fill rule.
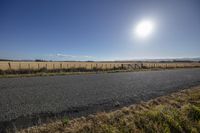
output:
[[181,57],[200,57],[199,0],[0,0],[1,59]]

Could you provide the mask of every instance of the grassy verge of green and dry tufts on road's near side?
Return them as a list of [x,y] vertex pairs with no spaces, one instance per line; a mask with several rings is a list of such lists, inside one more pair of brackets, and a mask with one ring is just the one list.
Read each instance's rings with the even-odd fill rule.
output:
[[131,105],[69,120],[31,127],[21,133],[200,132],[200,86]]

